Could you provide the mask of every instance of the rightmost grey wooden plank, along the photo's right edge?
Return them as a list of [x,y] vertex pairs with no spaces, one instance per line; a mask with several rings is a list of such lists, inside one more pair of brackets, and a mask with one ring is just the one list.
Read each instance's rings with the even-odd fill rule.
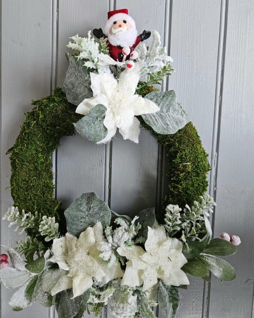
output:
[[210,318],[253,315],[253,16],[252,1],[228,2],[214,236],[239,235],[242,244],[226,258],[236,279],[221,284],[212,276]]

